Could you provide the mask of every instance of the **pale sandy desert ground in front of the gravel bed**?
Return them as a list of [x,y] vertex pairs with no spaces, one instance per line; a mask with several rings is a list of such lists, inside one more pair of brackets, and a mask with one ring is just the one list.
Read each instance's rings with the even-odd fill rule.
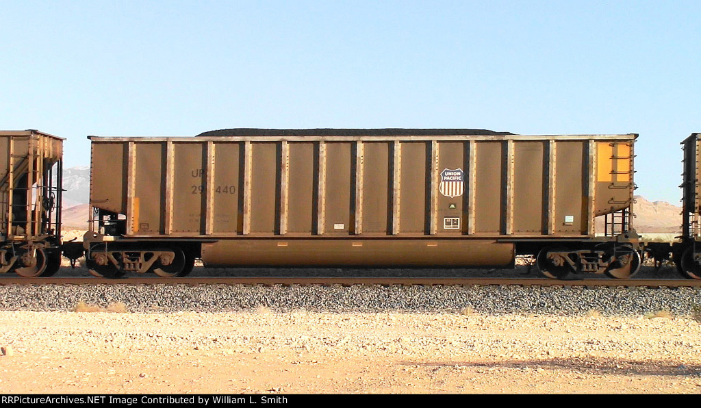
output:
[[0,311],[0,393],[701,391],[688,317],[113,309]]

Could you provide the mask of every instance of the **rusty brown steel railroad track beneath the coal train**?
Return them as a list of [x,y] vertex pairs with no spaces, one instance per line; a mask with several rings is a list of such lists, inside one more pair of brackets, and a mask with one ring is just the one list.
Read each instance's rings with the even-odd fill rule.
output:
[[0,285],[421,285],[421,286],[547,286],[547,287],[701,287],[701,280],[572,278],[304,278],[304,277],[192,277],[104,279],[93,277],[21,278],[1,276]]

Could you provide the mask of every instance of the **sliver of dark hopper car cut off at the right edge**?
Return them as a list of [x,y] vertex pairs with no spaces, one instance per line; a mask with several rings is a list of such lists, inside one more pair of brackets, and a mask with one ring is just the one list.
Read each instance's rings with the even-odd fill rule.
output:
[[701,133],[683,142],[681,243],[673,246],[676,267],[687,278],[701,279]]

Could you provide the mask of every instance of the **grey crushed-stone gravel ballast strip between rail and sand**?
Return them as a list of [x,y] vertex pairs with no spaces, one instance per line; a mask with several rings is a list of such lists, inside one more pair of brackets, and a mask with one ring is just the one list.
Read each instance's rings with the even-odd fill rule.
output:
[[247,286],[247,285],[6,285],[0,309],[69,311],[84,302],[121,303],[132,312],[272,311],[482,314],[543,313],[641,315],[668,311],[688,315],[701,304],[696,288],[519,286]]

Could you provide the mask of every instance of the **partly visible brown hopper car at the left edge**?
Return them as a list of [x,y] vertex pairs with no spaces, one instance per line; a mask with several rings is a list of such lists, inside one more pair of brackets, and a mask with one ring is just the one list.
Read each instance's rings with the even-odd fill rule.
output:
[[60,268],[62,146],[37,130],[0,131],[0,273]]

